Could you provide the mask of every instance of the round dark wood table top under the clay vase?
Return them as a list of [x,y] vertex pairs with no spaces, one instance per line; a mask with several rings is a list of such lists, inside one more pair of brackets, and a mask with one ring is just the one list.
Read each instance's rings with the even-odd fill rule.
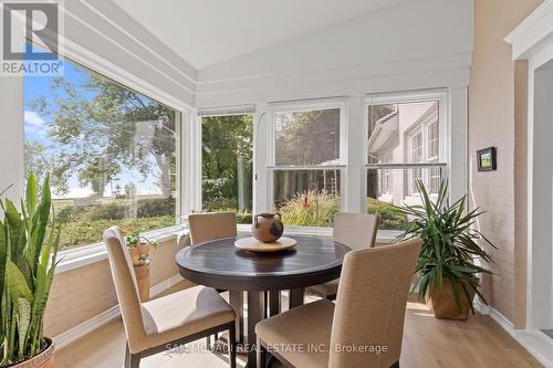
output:
[[[244,238],[238,236],[238,238]],[[180,274],[197,284],[236,291],[306,287],[340,277],[346,245],[315,236],[293,235],[298,245],[275,253],[234,246],[238,238],[219,239],[177,253]]]

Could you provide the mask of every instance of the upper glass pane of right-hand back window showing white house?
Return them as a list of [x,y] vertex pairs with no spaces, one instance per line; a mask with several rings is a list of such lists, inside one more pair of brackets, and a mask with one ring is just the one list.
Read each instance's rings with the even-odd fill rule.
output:
[[368,106],[368,164],[440,160],[439,103]]

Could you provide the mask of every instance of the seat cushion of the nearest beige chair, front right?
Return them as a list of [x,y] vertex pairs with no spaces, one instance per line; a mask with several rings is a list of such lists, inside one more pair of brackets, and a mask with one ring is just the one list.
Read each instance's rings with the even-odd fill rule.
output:
[[294,367],[328,366],[334,303],[323,299],[264,319],[255,333],[271,353]]

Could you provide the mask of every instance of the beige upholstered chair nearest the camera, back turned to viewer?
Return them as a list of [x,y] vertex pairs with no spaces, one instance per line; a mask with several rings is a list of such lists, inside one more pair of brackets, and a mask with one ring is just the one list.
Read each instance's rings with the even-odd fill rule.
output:
[[399,367],[420,244],[411,239],[348,252],[335,304],[321,299],[258,323],[258,367],[268,347],[286,367]]

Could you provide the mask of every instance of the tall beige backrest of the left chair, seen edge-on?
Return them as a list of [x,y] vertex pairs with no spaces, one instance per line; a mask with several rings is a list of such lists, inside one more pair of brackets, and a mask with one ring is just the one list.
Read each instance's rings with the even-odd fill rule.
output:
[[139,341],[146,332],[133,262],[119,228],[113,227],[104,231],[104,242],[128,346],[134,350],[136,341]]

